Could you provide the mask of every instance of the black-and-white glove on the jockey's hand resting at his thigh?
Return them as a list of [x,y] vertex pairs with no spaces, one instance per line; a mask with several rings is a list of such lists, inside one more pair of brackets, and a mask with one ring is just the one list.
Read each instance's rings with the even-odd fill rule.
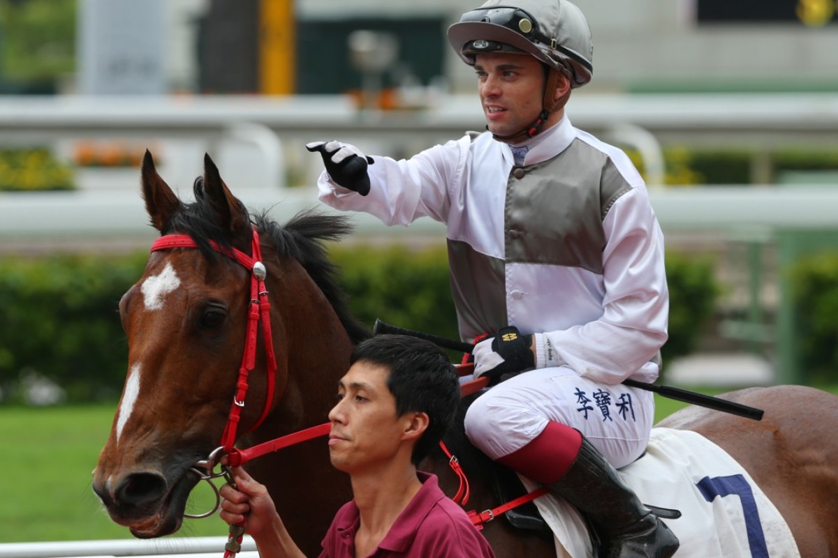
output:
[[530,350],[532,335],[521,335],[514,325],[502,327],[494,335],[474,346],[474,378],[489,377],[494,386],[504,374],[515,374],[535,366]]

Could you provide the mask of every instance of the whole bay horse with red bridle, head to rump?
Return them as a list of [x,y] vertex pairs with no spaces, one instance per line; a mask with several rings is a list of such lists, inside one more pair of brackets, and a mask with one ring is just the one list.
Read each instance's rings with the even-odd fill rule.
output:
[[[158,242],[173,235],[187,241],[155,243],[160,249],[119,303],[127,379],[92,488],[111,520],[150,538],[180,528],[189,492],[200,480],[195,465],[206,463],[223,445],[220,439],[230,440],[230,424],[236,445],[251,447],[327,422],[349,354],[370,331],[350,315],[326,253],[325,242],[349,233],[343,216],[309,210],[280,226],[266,212],[251,215],[209,156],[204,176],[194,182],[194,202],[174,194],[149,152],[141,177]],[[261,273],[252,262],[257,253]],[[258,293],[257,275],[264,284]],[[268,329],[248,330],[259,311]],[[254,354],[254,343],[266,346]],[[838,555],[832,526],[838,443],[824,435],[838,429],[838,397],[809,387],[751,388],[722,397],[762,408],[763,421],[687,407],[659,426],[700,433],[742,463],[787,520],[801,555]],[[468,474],[469,507],[491,509],[498,504],[493,468],[464,438],[467,405],[464,399],[445,440]],[[420,467],[437,474],[452,495],[460,479],[449,464],[437,451]],[[246,468],[266,484],[303,552],[317,555],[334,513],[351,498],[348,478],[331,467],[326,444],[301,443]],[[556,555],[550,536],[503,520],[490,521],[482,532],[499,556]]]

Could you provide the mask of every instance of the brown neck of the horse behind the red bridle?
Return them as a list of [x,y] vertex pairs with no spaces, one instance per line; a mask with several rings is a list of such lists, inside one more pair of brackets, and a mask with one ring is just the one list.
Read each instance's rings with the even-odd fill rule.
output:
[[[297,264],[281,283],[274,285],[277,298],[272,299],[277,396],[246,443],[328,422],[338,381],[349,366],[352,340],[308,274]],[[306,555],[316,555],[334,514],[352,498],[347,475],[329,462],[326,439],[269,453],[249,469],[272,494],[297,544]]]

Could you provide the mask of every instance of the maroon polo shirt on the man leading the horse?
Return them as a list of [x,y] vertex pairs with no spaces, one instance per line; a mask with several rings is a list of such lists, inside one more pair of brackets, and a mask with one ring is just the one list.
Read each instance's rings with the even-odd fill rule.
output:
[[[468,515],[439,489],[436,475],[418,473],[422,488],[367,558],[494,558]],[[334,516],[320,558],[354,558],[360,513],[354,500]]]

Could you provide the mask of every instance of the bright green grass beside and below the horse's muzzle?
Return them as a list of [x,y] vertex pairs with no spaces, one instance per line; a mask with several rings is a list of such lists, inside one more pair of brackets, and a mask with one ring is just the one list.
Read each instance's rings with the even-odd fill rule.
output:
[[[0,543],[126,539],[91,489],[115,406],[0,407],[3,498]],[[209,487],[193,491],[194,510],[209,509]],[[226,535],[217,515],[184,520],[175,536]]]

